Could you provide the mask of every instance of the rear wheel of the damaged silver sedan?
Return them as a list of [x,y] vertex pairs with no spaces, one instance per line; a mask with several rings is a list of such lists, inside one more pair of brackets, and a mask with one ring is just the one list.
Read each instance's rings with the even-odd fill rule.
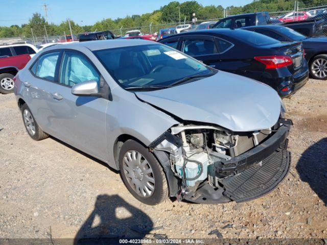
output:
[[24,104],[21,107],[21,114],[22,114],[22,120],[24,121],[24,125],[26,128],[26,131],[34,140],[41,140],[48,138],[49,135],[44,133],[39,125],[37,124],[30,108]]

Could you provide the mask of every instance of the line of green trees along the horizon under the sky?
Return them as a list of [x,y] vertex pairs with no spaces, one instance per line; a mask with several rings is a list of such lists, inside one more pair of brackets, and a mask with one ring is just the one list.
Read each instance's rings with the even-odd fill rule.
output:
[[[301,0],[299,1],[300,8],[314,7],[326,5],[326,0]],[[288,11],[294,9],[294,0],[254,0],[252,3],[244,6],[229,6],[226,8],[228,15],[235,15],[248,12],[259,11]],[[218,19],[223,18],[224,8],[214,5],[202,6],[196,1],[187,1],[184,3],[171,2],[168,5],[160,7],[158,10],[154,10],[152,13],[145,13],[142,15],[131,15],[125,18],[104,18],[101,21],[97,21],[92,26],[81,26],[71,20],[71,27],[73,33],[83,33],[92,31],[104,31],[104,30],[118,30],[123,28],[135,28],[145,27],[152,23],[153,26],[175,23],[184,19],[186,21],[192,20],[192,14],[195,13],[198,20],[205,19]],[[60,24],[48,23],[40,13],[34,13],[29,19],[28,23],[21,26],[12,25],[10,27],[0,27],[0,38],[6,37],[26,37],[31,38],[32,32],[36,37],[44,37],[45,29],[48,36],[63,35],[65,32],[69,34],[68,21],[64,20]]]

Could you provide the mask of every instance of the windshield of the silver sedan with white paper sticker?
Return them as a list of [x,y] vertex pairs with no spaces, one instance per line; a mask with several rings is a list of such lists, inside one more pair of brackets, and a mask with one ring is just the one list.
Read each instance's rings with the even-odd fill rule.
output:
[[211,76],[214,69],[162,44],[110,48],[94,52],[125,89],[172,86],[193,76]]

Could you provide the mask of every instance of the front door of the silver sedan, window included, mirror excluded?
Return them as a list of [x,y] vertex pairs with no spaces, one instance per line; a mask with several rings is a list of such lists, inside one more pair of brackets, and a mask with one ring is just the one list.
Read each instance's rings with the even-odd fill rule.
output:
[[59,83],[51,87],[51,125],[56,136],[90,155],[108,160],[106,109],[109,101],[97,96],[76,96],[75,84],[95,80],[100,72],[82,53],[65,51],[61,59]]

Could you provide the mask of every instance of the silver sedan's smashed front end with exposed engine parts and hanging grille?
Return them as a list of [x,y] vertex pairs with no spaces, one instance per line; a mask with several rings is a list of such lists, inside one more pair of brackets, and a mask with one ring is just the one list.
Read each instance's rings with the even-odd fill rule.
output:
[[244,202],[271,191],[287,175],[291,125],[279,118],[272,128],[237,133],[190,122],[170,128],[149,148],[164,166],[171,197]]

